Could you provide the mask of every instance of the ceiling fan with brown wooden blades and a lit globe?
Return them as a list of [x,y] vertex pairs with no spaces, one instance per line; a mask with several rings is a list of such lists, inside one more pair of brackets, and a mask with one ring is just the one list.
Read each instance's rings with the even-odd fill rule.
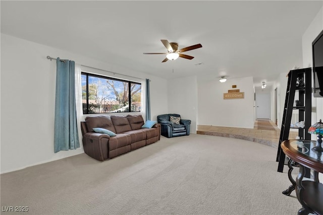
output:
[[196,44],[196,45],[188,46],[188,47],[182,48],[180,50],[177,50],[178,43],[173,43],[173,42],[170,43],[170,42],[168,42],[168,40],[160,40],[160,41],[167,48],[167,50],[168,50],[167,53],[143,53],[143,54],[166,54],[166,58],[161,62],[166,62],[167,60],[176,60],[178,57],[183,57],[183,58],[191,60],[194,58],[193,56],[182,54],[182,52],[190,51],[190,50],[202,47],[201,44]]

